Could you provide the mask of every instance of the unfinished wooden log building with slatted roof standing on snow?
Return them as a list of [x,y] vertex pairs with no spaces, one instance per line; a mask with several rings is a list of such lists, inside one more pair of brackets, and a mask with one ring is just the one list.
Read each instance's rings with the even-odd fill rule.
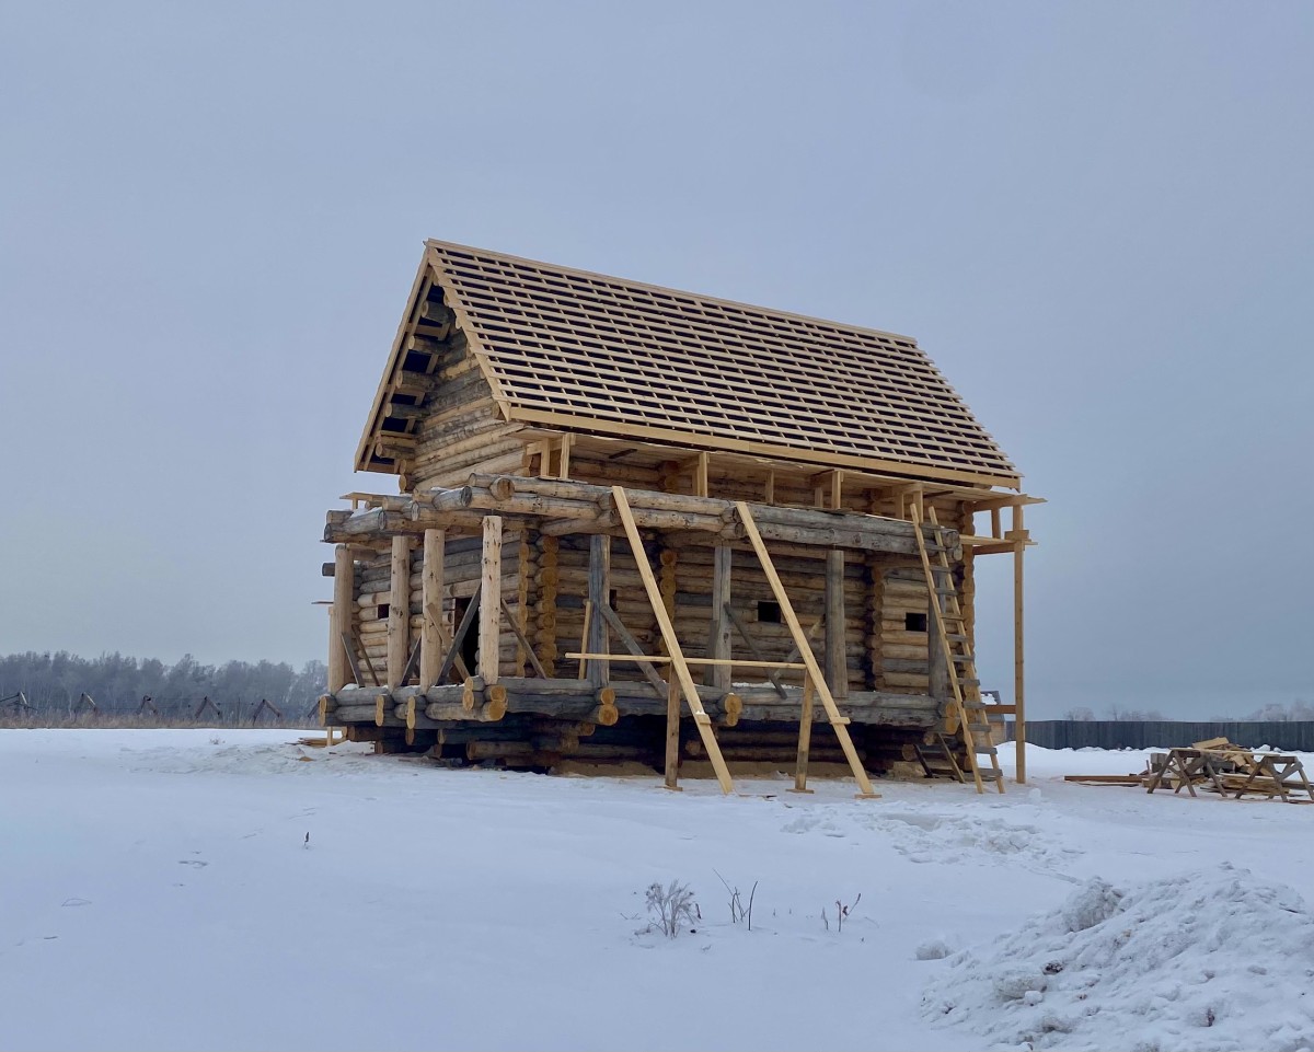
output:
[[[897,760],[1004,789],[1038,502],[909,338],[428,242],[356,469],[399,493],[325,528],[321,717],[350,738],[671,788],[788,760],[803,789],[811,759],[861,795]],[[1009,707],[972,650],[996,553]]]

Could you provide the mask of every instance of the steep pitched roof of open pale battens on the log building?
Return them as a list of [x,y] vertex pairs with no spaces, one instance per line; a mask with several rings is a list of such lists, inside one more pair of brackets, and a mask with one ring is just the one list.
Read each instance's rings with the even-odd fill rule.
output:
[[1018,483],[908,336],[444,242],[426,259],[507,419]]

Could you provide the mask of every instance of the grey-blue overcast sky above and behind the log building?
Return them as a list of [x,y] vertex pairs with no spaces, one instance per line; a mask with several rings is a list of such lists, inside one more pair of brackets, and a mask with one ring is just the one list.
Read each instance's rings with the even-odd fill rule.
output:
[[4,4],[0,653],[323,657],[432,236],[916,336],[1033,717],[1314,700],[1311,113],[1309,4]]

